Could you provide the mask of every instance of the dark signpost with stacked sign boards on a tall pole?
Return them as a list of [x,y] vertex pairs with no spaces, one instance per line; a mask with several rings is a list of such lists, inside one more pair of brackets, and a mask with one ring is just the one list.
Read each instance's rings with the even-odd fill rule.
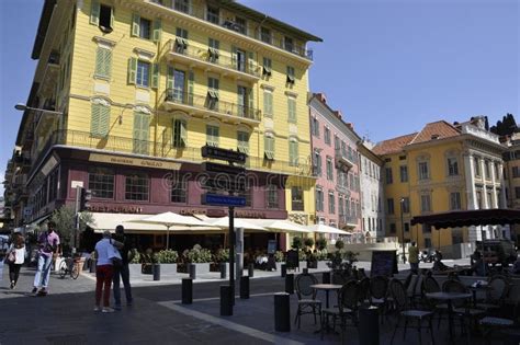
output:
[[[246,189],[246,169],[242,166],[236,166],[234,163],[246,163],[247,154],[211,146],[202,147],[201,151],[203,158],[228,162],[227,165],[203,162],[201,168],[203,172],[211,176],[211,179],[204,182],[204,188],[212,189],[212,192],[219,191],[228,193],[228,195],[205,193],[202,195],[202,204],[227,206],[229,210],[229,287],[231,290],[231,296],[229,298],[231,306],[229,307],[233,308],[235,301],[235,207],[246,206],[245,197],[234,195],[235,192],[242,192]],[[234,188],[231,188],[231,186]]]

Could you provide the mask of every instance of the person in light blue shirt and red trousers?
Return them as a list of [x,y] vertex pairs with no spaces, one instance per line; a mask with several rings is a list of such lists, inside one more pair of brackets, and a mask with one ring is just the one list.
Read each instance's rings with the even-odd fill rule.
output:
[[[110,308],[110,288],[112,285],[113,276],[113,257],[120,257],[121,255],[112,244],[112,235],[109,230],[103,232],[103,238],[95,243],[95,307],[94,311],[102,312],[114,312],[114,309]],[[103,308],[101,304],[101,296],[103,296]]]

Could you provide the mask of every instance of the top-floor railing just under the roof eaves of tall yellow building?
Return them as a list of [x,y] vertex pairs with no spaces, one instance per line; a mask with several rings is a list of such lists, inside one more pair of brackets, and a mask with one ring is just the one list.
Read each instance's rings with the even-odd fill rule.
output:
[[[255,38],[259,42],[270,44],[274,47],[278,47],[278,48],[281,48],[283,50],[290,51],[294,55],[304,57],[308,60],[313,60],[313,50],[305,48],[305,45],[298,45],[298,44],[295,44],[295,43],[291,43],[291,44],[287,43],[286,44],[285,43],[285,37],[283,35],[279,36],[279,35],[274,35],[274,33],[271,33],[271,35],[269,35],[269,37],[267,37],[267,35],[264,35],[262,37],[262,34],[261,34],[261,31],[260,31],[260,27],[261,27],[260,22],[248,21],[247,25],[244,26],[242,24],[237,23],[237,22],[233,21],[229,18],[224,18],[221,14],[217,15],[216,13],[207,12],[206,7],[201,7],[201,5],[195,5],[195,4],[191,4],[190,7],[185,7],[182,2],[177,1],[177,0],[171,1],[171,4],[172,4],[171,7],[168,7],[168,5],[163,4],[161,0],[149,0],[149,1],[152,2],[152,3],[159,4],[161,7],[165,7],[167,9],[171,9],[171,10],[174,10],[174,11],[178,11],[178,12],[181,12],[181,13],[185,13],[188,15],[201,19],[201,20],[206,21],[208,23],[213,23],[215,25],[225,27],[227,30],[240,33],[245,36],[248,36],[250,38]],[[264,39],[262,39],[262,38],[264,38]]]

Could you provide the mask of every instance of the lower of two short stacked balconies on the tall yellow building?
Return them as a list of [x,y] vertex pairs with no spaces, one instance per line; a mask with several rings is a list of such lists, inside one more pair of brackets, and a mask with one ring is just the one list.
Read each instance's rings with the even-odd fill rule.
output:
[[231,124],[258,125],[261,119],[261,112],[259,110],[221,101],[218,94],[214,91],[208,91],[206,95],[202,95],[168,89],[166,91],[165,106],[168,110],[182,110],[203,118],[213,115]]

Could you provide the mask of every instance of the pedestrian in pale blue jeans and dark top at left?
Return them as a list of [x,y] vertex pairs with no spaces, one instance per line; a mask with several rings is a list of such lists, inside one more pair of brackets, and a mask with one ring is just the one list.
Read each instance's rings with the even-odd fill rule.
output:
[[[49,221],[47,231],[38,237],[38,266],[34,276],[33,294],[46,296],[48,294],[48,280],[50,277],[50,266],[53,265],[53,256],[57,254],[59,249],[59,235],[55,231],[56,223]],[[38,291],[38,288],[39,291]]]

